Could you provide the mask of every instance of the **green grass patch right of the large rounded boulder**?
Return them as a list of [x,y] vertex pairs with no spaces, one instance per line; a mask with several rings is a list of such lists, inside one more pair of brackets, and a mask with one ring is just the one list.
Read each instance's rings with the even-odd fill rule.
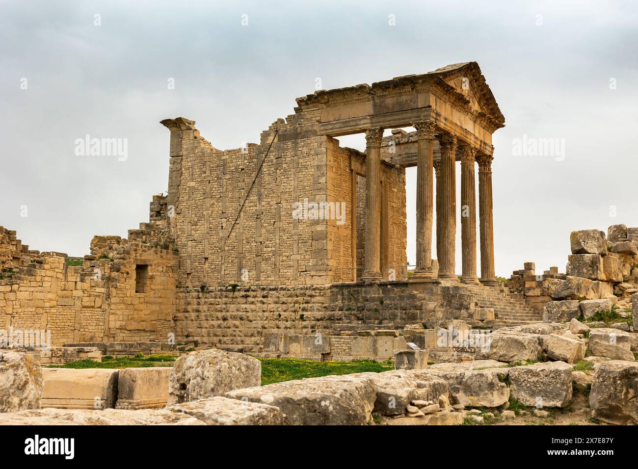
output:
[[262,386],[282,381],[318,378],[328,375],[348,375],[365,371],[388,371],[394,369],[390,361],[375,362],[356,360],[352,362],[300,360],[293,358],[259,358],[262,362]]

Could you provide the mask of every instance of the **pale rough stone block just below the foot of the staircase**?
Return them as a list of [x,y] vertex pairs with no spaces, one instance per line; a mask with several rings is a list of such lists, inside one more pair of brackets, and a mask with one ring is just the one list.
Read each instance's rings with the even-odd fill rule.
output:
[[538,336],[516,331],[496,331],[485,348],[477,349],[475,359],[517,362],[537,360],[542,352]]

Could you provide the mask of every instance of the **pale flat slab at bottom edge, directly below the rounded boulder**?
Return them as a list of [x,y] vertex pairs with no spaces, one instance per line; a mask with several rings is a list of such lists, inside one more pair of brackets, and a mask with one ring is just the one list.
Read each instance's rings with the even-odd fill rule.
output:
[[171,412],[182,412],[207,425],[283,425],[278,407],[228,399],[221,396],[168,406]]

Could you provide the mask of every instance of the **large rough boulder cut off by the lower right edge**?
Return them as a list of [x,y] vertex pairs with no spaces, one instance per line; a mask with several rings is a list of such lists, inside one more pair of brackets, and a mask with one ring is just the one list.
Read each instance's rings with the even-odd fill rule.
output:
[[638,425],[638,363],[601,363],[591,383],[591,416],[618,425]]

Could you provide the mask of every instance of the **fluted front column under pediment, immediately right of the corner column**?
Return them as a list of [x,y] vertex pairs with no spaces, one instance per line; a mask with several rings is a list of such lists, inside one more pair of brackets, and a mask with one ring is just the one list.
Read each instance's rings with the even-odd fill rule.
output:
[[[439,278],[456,279],[454,254],[456,244],[456,137],[446,133],[438,135],[441,145],[441,177],[436,181],[436,195],[440,195],[436,209],[436,256]],[[439,193],[438,186],[441,185]],[[440,237],[439,237],[440,236]]]

